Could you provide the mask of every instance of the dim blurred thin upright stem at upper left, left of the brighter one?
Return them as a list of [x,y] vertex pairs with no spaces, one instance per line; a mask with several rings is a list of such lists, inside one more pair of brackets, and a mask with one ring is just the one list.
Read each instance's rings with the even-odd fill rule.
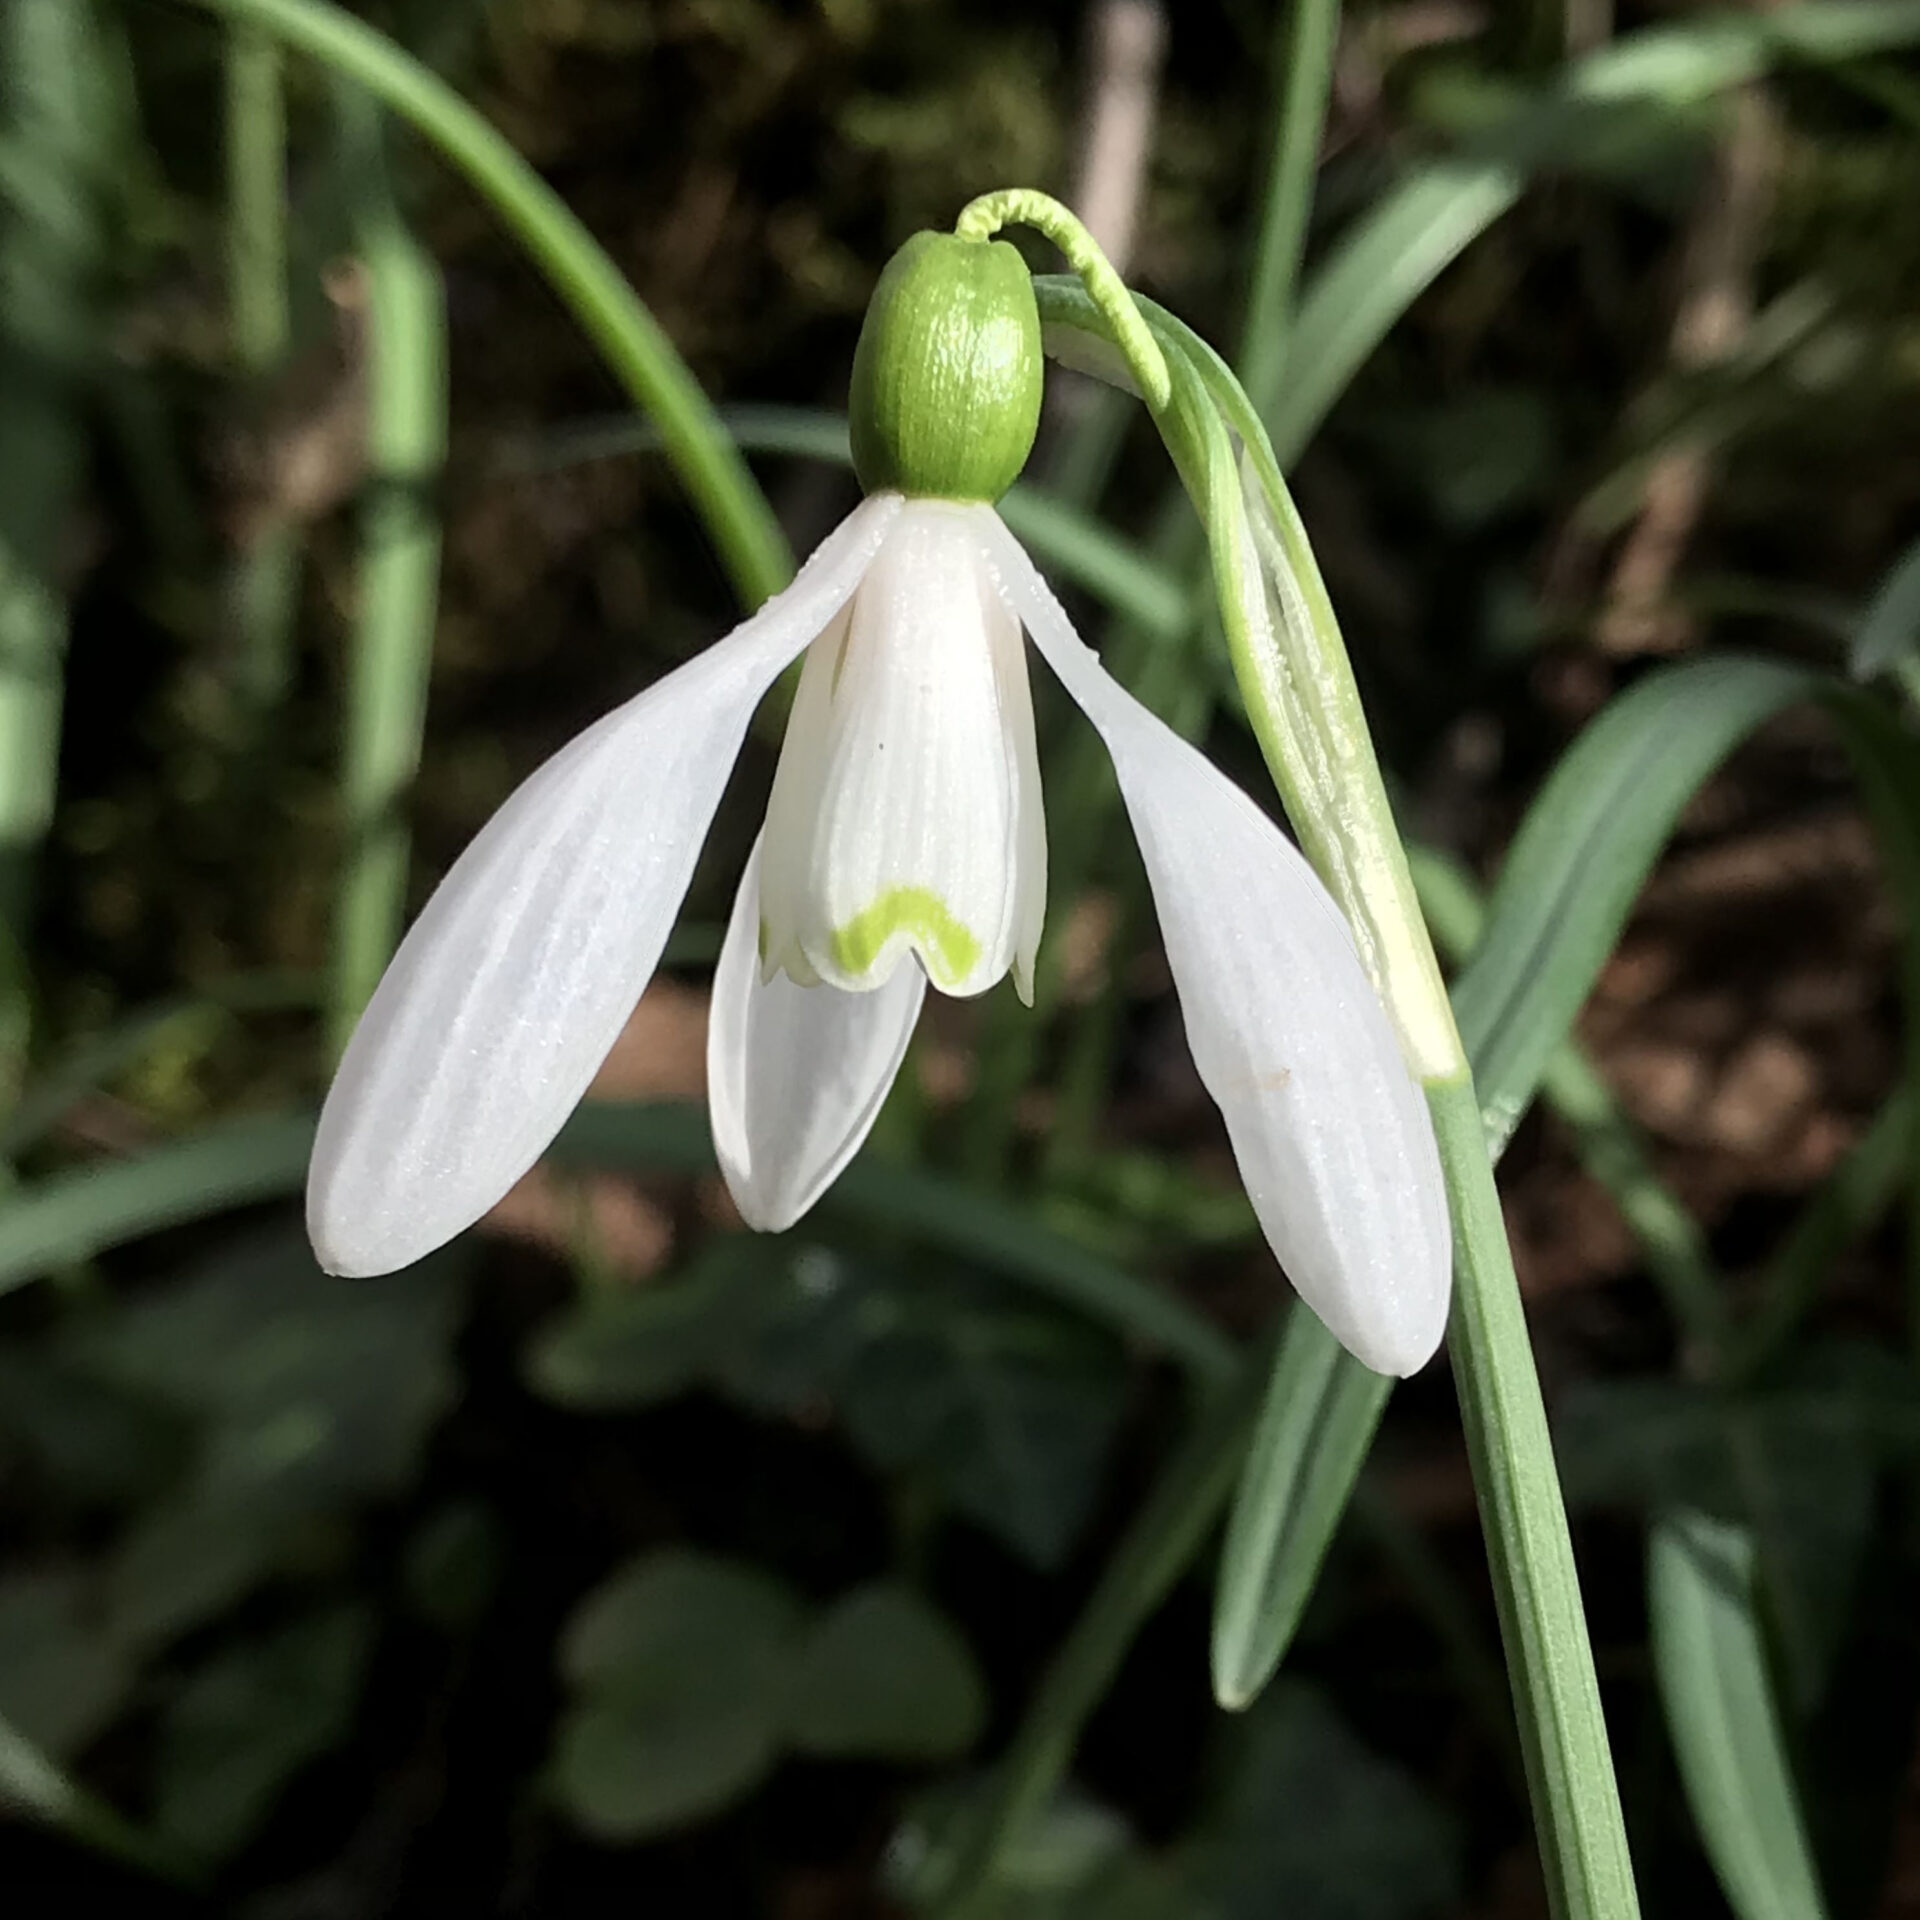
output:
[[[227,35],[227,298],[234,369],[257,396],[292,346],[286,263],[286,100],[280,48],[257,27]],[[234,680],[250,720],[273,712],[294,674],[300,530],[269,509],[240,532],[228,582]]]

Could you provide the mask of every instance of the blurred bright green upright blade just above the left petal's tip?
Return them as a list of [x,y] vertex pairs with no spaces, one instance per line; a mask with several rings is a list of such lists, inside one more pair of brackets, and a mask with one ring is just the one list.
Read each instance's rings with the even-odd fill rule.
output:
[[420,764],[440,588],[438,488],[447,451],[440,269],[394,202],[380,108],[334,88],[342,175],[353,196],[348,298],[367,353],[359,605],[348,649],[340,810],[346,862],[334,902],[328,1039],[338,1054],[399,943],[407,912],[407,793]]

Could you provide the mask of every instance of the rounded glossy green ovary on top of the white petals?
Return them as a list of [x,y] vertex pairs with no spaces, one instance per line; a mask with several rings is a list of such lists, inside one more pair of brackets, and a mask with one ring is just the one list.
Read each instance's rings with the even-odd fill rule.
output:
[[1041,420],[1041,315],[1004,240],[914,234],[887,261],[852,357],[852,465],[868,493],[996,501]]

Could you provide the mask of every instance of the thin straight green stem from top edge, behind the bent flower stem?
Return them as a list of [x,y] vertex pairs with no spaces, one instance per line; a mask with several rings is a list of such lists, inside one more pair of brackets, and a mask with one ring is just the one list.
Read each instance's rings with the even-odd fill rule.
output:
[[1254,246],[1254,280],[1240,338],[1240,380],[1265,413],[1279,392],[1294,324],[1294,290],[1308,242],[1313,179],[1319,171],[1332,54],[1340,38],[1340,0],[1294,0],[1275,40],[1279,81],[1273,161]]

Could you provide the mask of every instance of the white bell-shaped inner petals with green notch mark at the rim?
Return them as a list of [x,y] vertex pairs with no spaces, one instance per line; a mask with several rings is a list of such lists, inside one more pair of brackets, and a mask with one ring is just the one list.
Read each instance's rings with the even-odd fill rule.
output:
[[1031,993],[1046,908],[1033,695],[987,576],[991,507],[910,501],[806,653],[766,808],[768,972],[864,991],[916,954],[945,993]]

